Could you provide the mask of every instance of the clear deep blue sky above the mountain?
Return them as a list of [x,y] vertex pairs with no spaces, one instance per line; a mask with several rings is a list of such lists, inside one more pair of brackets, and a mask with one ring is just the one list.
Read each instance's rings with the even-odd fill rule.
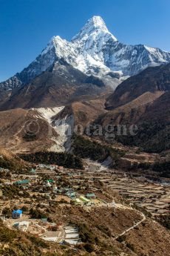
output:
[[0,0],[0,81],[32,62],[52,36],[71,39],[101,16],[120,42],[170,51],[169,0]]

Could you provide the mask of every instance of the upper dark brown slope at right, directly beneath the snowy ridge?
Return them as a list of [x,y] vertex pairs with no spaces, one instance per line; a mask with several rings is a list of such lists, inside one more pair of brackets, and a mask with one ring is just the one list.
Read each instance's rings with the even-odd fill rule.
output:
[[117,108],[146,92],[170,91],[170,64],[146,68],[126,79],[106,101],[106,108]]

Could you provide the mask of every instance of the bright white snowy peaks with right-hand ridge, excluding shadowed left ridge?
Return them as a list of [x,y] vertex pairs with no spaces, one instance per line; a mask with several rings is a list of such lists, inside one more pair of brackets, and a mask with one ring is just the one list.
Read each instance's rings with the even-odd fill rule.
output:
[[99,16],[89,19],[71,42],[55,36],[51,44],[58,58],[87,75],[102,77],[111,72],[112,76],[132,76],[149,66],[170,62],[170,53],[159,48],[118,42]]

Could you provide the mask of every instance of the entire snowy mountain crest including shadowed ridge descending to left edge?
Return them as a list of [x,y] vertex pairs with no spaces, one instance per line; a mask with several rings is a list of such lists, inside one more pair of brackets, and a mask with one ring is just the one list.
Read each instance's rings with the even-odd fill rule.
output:
[[170,53],[146,45],[124,45],[109,32],[100,16],[94,16],[71,42],[54,36],[34,62],[0,83],[0,89],[25,85],[61,59],[87,75],[110,81],[123,80],[149,66],[166,64],[170,62]]

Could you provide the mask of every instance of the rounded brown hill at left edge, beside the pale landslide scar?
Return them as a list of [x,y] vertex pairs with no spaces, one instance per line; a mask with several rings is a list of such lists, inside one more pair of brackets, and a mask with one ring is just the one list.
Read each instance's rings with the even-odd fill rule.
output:
[[[0,112],[0,145],[14,153],[41,151],[58,137],[47,120],[35,110],[14,109]],[[32,135],[35,134],[35,135]]]

